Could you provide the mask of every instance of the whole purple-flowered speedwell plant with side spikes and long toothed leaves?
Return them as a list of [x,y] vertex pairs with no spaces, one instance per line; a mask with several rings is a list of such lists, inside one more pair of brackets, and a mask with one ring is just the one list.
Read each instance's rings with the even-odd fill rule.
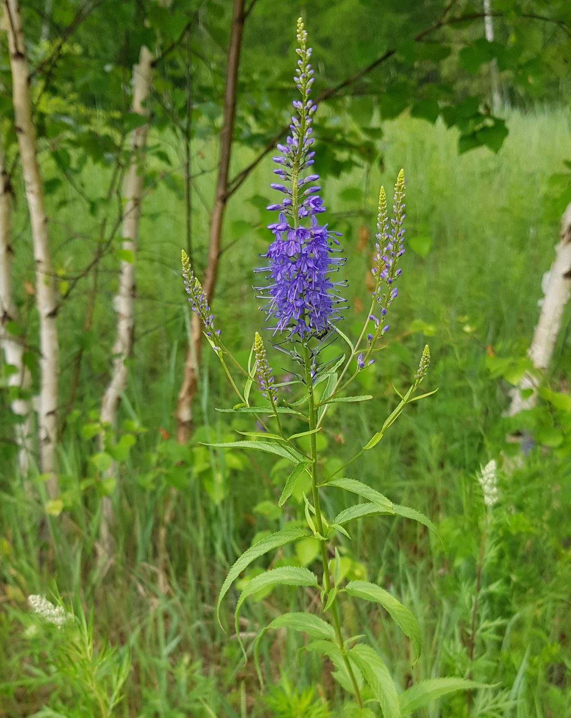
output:
[[[301,99],[293,103],[295,113],[289,126],[291,133],[284,144],[278,144],[279,154],[273,158],[274,163],[277,164],[274,174],[277,175],[279,182],[272,183],[271,188],[279,193],[280,200],[269,205],[268,210],[277,213],[277,220],[268,225],[274,238],[262,256],[263,266],[255,271],[265,278],[264,283],[256,286],[256,291],[257,296],[265,302],[262,309],[266,312],[268,325],[266,330],[274,341],[274,347],[289,356],[294,376],[297,378],[297,381],[292,383],[302,387],[300,398],[293,403],[286,401],[283,396],[284,391],[280,391],[279,385],[274,382],[264,342],[258,332],[247,368],[242,368],[232,357],[223,344],[220,331],[215,329],[213,315],[200,282],[192,273],[188,257],[182,252],[183,274],[192,309],[203,322],[205,336],[220,358],[240,400],[233,409],[223,411],[253,414],[264,429],[263,432],[249,432],[248,439],[211,445],[269,452],[291,462],[292,470],[284,478],[282,495],[279,498],[280,506],[287,502],[302,476],[309,475],[311,478],[311,495],[305,498],[305,522],[302,525],[290,525],[262,538],[238,558],[220,589],[216,613],[219,617],[223,598],[239,574],[252,561],[273,549],[301,538],[315,537],[320,546],[322,562],[320,575],[307,568],[284,566],[259,574],[246,584],[236,605],[238,640],[241,643],[238,630],[239,615],[244,601],[249,596],[278,584],[317,590],[320,592],[322,602],[322,617],[309,612],[287,613],[271,621],[256,639],[254,658],[260,681],[259,645],[266,632],[280,627],[299,630],[313,639],[307,646],[308,649],[320,651],[330,658],[337,668],[335,678],[353,694],[358,706],[361,707],[363,704],[363,691],[367,691],[379,701],[384,715],[393,718],[409,714],[430,699],[452,689],[458,689],[462,679],[442,679],[456,681],[453,685],[424,681],[424,686],[423,684],[414,686],[416,691],[414,694],[409,694],[409,691],[398,693],[381,656],[371,646],[361,642],[360,637],[348,638],[344,635],[338,602],[349,596],[384,607],[392,620],[411,640],[416,656],[419,655],[421,648],[417,620],[385,589],[367,581],[344,583],[341,579],[340,556],[335,543],[350,538],[348,524],[363,516],[399,515],[419,521],[431,529],[434,529],[434,526],[418,511],[392,503],[376,488],[355,478],[333,475],[325,480],[320,477],[316,436],[322,430],[330,404],[342,401],[366,401],[372,398],[372,396],[347,396],[345,391],[358,373],[366,370],[375,361],[374,355],[385,345],[382,337],[389,331],[389,313],[398,294],[397,284],[401,274],[399,264],[405,251],[404,172],[401,170],[396,179],[392,218],[389,218],[386,195],[381,187],[376,253],[371,270],[375,279],[375,288],[363,330],[353,344],[338,327],[342,317],[341,312],[346,306],[342,296],[343,287],[347,286],[344,279],[338,279],[345,261],[341,256],[340,234],[330,230],[328,223],[323,219],[325,207],[320,197],[321,188],[317,184],[320,178],[312,169],[315,162],[315,151],[312,149],[312,124],[317,106],[310,98],[313,83],[313,70],[310,65],[311,48],[307,47],[307,33],[301,20],[297,23],[297,42],[299,59],[295,82]],[[322,349],[328,342],[338,338],[348,345],[347,354],[333,363],[322,362],[320,359]],[[233,368],[241,370],[245,376],[243,391],[234,381],[228,369],[227,359]],[[400,402],[396,409],[345,467],[379,443],[407,404],[429,396],[429,394],[417,395],[417,389],[426,376],[429,362],[430,353],[426,347],[410,388],[404,394],[399,393]],[[320,384],[322,386],[316,392]],[[260,389],[266,404],[251,404],[250,394],[253,386]],[[291,392],[291,387],[289,391]],[[291,398],[290,393],[288,396]],[[307,429],[300,433],[289,434],[284,424],[292,417],[298,423],[305,421]],[[307,437],[307,435],[310,437],[308,454],[303,452],[297,443],[299,437]],[[341,511],[338,516],[326,517],[320,503],[320,493],[324,490],[332,492],[345,490],[365,501]],[[467,683],[464,681],[463,685]]]

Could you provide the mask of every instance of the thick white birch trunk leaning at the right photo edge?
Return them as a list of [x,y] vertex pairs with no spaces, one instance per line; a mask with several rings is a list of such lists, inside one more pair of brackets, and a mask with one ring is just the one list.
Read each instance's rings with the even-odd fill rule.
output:
[[[554,262],[547,275],[544,276],[542,284],[544,284],[542,308],[539,312],[539,320],[535,327],[528,356],[537,370],[545,372],[549,368],[557,335],[560,332],[565,304],[569,301],[571,294],[571,204],[567,205],[567,209],[563,213],[561,241],[555,247]],[[535,406],[537,384],[537,378],[526,373],[512,394],[509,416]],[[521,396],[521,391],[524,389],[531,389],[531,394],[527,398]]]

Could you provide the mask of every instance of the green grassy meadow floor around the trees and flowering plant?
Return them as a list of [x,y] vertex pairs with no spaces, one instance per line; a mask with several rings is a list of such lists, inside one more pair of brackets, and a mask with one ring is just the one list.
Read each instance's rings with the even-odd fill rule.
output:
[[[569,432],[569,421],[541,406],[523,423],[510,423],[502,413],[511,385],[496,376],[499,360],[517,367],[531,340],[542,274],[549,269],[559,232],[548,178],[571,157],[571,135],[564,111],[512,113],[509,129],[497,155],[479,149],[458,157],[457,139],[444,126],[401,118],[385,127],[382,167],[324,182],[328,220],[343,232],[348,256],[350,309],[343,327],[354,333],[368,302],[378,187],[381,182],[391,187],[400,167],[407,174],[407,241],[417,251],[409,249],[404,256],[389,347],[361,375],[375,401],[332,409],[335,428],[320,441],[327,474],[379,429],[396,404],[391,383],[406,387],[422,347],[430,344],[426,386],[439,391],[409,407],[376,451],[353,465],[351,475],[395,502],[422,510],[436,523],[442,543],[417,524],[377,518],[361,522],[353,541],[343,546],[349,577],[379,582],[419,619],[424,650],[411,667],[412,648],[381,611],[343,602],[348,632],[362,633],[367,626],[368,640],[401,689],[437,676],[469,675],[491,686],[415,713],[422,718],[571,714],[571,467],[569,456],[557,449],[560,444],[537,438],[538,432],[547,437],[550,430]],[[197,162],[206,167],[212,153],[206,148],[204,154]],[[245,152],[236,164],[243,159]],[[226,221],[228,248],[213,309],[226,342],[238,353],[247,353],[262,321],[250,285],[251,268],[269,234],[261,230],[266,218],[256,198],[267,197],[270,174],[268,162],[256,170],[233,197]],[[210,176],[198,182],[200,196],[211,197]],[[90,190],[100,184],[96,174],[85,177]],[[361,196],[348,188],[361,190]],[[68,254],[77,256],[92,241],[89,236],[65,241],[65,225],[88,234],[95,221],[78,215],[73,192],[66,192],[67,204],[57,207],[62,197],[50,198],[52,216],[57,216],[55,256],[62,265]],[[100,500],[93,488],[93,455],[98,447],[89,426],[97,417],[113,342],[116,259],[102,266],[80,404],[67,417],[60,446],[65,510],[42,525],[43,502],[29,498],[8,467],[1,469],[0,645],[5,648],[0,651],[0,716],[102,714],[93,702],[94,691],[85,686],[93,681],[111,686],[127,654],[131,669],[125,698],[113,713],[118,717],[351,715],[317,657],[298,653],[299,639],[281,633],[264,643],[264,672],[273,686],[261,696],[251,661],[243,665],[236,639],[215,622],[215,597],[233,560],[260,532],[302,518],[303,503],[298,494],[287,510],[272,505],[282,488],[283,467],[272,468],[269,460],[240,452],[218,454],[199,444],[206,437],[236,437],[233,429],[249,426],[216,414],[215,406],[231,406],[233,399],[213,357],[205,355],[200,378],[200,428],[188,446],[170,438],[187,320],[178,264],[182,207],[182,200],[175,203],[173,193],[161,185],[144,206],[136,348],[121,407],[123,419],[131,422],[125,432],[136,435],[136,444],[121,463],[113,560],[97,558]],[[25,236],[22,206],[19,212],[17,228]],[[370,232],[367,243],[364,228]],[[196,199],[198,266],[207,235],[208,211]],[[19,253],[20,276],[31,269]],[[87,297],[88,284],[81,284],[78,293]],[[60,320],[64,391],[80,340],[75,327],[83,323],[83,304],[68,304]],[[569,320],[567,308],[564,327]],[[333,356],[340,350],[334,345],[328,351]],[[278,374],[291,368],[279,356],[273,364]],[[564,330],[549,386],[568,393],[570,368],[571,341]],[[514,447],[505,437],[518,426],[536,440],[508,470],[505,457]],[[477,474],[490,460],[500,467],[501,498],[487,512]],[[173,490],[174,508],[165,522]],[[343,507],[328,497],[325,511],[334,515]],[[162,531],[167,536],[164,569],[158,556]],[[286,550],[279,560],[311,567],[314,549],[310,543]],[[253,575],[250,571],[245,579]],[[65,630],[39,628],[24,602],[26,595],[37,593],[61,595],[70,610],[73,606],[78,615],[85,614],[84,634],[74,638]],[[289,607],[307,607],[310,600],[300,592]],[[227,600],[228,617],[231,605]],[[287,608],[279,590],[250,603],[243,610],[243,632],[253,637],[269,617]],[[83,656],[92,635],[93,660],[69,661],[74,655],[69,645]],[[103,652],[106,642],[115,653]],[[287,677],[282,676],[284,666]]]

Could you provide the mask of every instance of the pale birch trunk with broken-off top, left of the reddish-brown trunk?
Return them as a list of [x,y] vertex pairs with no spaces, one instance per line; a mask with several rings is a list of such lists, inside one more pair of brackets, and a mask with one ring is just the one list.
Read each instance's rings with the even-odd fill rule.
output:
[[[133,67],[133,100],[131,110],[139,115],[147,116],[145,101],[149,95],[152,80],[153,56],[147,47],[142,46],[139,62]],[[147,123],[137,127],[132,133],[132,151],[129,169],[126,172],[123,197],[125,213],[121,236],[121,248],[130,253],[128,258],[121,259],[119,274],[119,292],[114,301],[117,312],[117,336],[113,345],[113,370],[111,381],[101,401],[101,421],[114,427],[121,393],[127,385],[126,360],[131,357],[134,330],[134,297],[135,297],[135,258],[137,240],[139,238],[139,218],[141,217],[141,195],[143,189],[142,149],[147,141]],[[114,468],[111,468],[111,472]],[[109,497],[103,498],[103,517],[101,520],[101,543],[109,552],[111,536],[109,533],[113,520],[113,507]]]

